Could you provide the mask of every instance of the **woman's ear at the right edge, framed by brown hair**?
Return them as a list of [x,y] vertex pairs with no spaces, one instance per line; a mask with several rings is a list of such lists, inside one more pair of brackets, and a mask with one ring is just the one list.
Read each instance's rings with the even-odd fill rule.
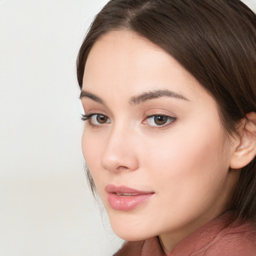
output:
[[230,158],[229,166],[240,169],[247,165],[256,155],[256,113],[246,114],[239,127],[239,134],[235,139],[235,149]]

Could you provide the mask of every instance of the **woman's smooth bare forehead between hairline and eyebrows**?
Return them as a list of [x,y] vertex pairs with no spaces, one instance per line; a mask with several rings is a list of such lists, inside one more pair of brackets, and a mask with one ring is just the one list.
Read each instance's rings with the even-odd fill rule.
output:
[[130,31],[110,31],[94,43],[85,64],[83,89],[104,95],[109,90],[137,94],[152,89],[205,93],[170,54]]

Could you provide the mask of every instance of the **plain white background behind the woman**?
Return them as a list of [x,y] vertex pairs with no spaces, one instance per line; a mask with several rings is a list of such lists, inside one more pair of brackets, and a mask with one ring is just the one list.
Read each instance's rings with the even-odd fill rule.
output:
[[106,2],[0,0],[1,256],[107,256],[121,244],[87,188],[75,78]]

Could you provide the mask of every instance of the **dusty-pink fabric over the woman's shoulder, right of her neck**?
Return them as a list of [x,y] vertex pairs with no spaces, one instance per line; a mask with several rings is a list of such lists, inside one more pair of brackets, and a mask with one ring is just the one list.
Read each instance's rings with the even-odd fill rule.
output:
[[231,211],[180,241],[171,256],[256,256],[256,226]]

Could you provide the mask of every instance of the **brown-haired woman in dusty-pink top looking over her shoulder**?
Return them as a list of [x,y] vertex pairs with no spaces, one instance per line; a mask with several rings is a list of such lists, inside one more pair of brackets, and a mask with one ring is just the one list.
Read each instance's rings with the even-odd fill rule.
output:
[[82,151],[115,255],[256,254],[256,17],[110,0],[81,45]]

